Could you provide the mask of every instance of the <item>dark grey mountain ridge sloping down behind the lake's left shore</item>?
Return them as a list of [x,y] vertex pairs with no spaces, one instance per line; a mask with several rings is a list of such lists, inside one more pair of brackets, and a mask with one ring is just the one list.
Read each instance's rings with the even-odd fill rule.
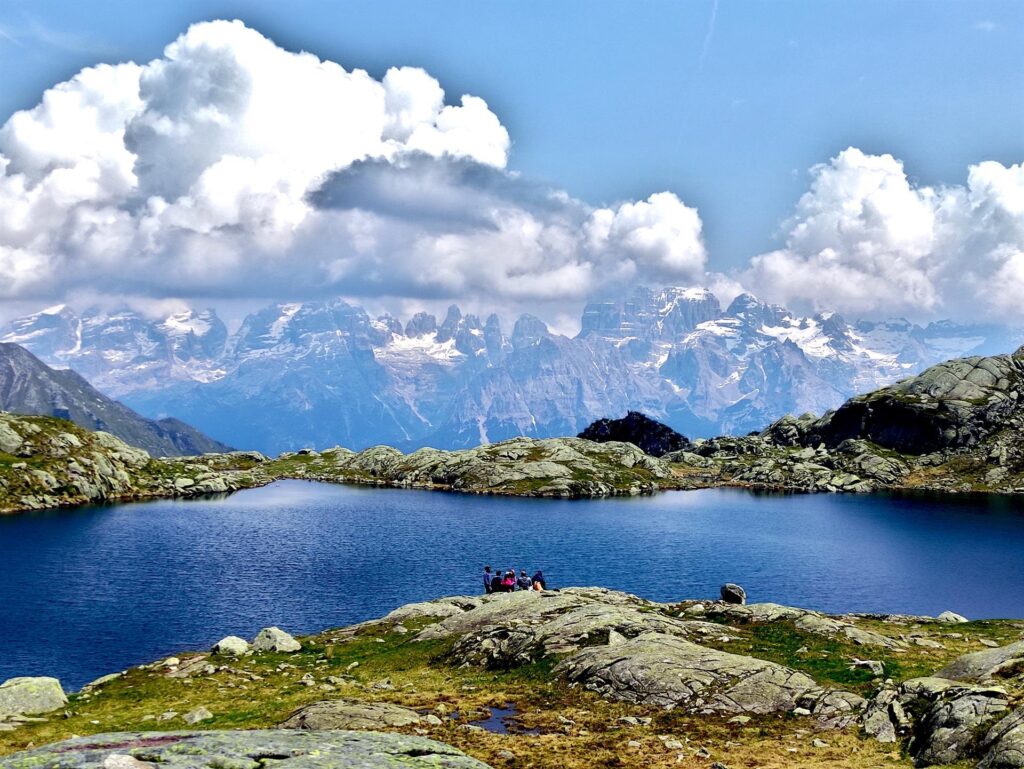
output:
[[230,451],[180,420],[145,419],[74,371],[50,369],[16,344],[0,343],[0,411],[60,417],[87,430],[109,432],[154,457]]

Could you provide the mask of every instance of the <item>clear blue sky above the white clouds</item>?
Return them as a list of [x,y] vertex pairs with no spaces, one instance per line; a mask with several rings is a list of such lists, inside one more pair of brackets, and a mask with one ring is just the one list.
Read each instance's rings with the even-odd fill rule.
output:
[[772,247],[807,169],[848,145],[892,153],[924,183],[1024,158],[1024,3],[721,0],[709,32],[712,9],[7,0],[0,116],[84,66],[145,61],[193,22],[237,17],[349,69],[420,66],[482,96],[512,136],[510,168],[591,203],[676,191],[723,266]]

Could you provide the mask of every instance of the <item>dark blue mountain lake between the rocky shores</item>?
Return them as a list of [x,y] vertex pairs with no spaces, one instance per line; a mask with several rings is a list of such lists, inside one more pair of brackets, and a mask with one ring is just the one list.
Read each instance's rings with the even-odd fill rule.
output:
[[826,611],[1024,616],[1024,506],[994,497],[709,489],[553,502],[299,481],[226,499],[0,517],[0,681],[104,673],[267,625],[294,633],[478,591],[484,563],[549,585]]

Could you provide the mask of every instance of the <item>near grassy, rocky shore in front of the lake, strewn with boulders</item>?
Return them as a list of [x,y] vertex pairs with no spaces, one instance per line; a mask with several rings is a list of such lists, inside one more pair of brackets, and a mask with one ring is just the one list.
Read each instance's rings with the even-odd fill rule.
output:
[[307,638],[227,637],[68,697],[5,682],[0,767],[1016,769],[1022,637],[1024,622],[952,612],[597,588],[442,598]]

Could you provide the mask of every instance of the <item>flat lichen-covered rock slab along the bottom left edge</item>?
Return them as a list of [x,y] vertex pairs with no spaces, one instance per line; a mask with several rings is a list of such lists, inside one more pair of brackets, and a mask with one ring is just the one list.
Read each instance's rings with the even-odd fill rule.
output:
[[424,737],[357,731],[114,732],[0,758],[0,769],[488,769]]

